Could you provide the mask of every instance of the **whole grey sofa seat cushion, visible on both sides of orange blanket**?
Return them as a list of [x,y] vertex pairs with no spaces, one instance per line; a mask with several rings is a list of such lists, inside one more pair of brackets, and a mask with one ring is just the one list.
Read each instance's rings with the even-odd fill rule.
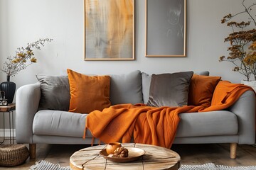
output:
[[[181,113],[176,137],[238,134],[238,119],[229,111]],[[87,114],[42,110],[33,120],[33,134],[82,137]],[[87,130],[86,137],[92,137]]]

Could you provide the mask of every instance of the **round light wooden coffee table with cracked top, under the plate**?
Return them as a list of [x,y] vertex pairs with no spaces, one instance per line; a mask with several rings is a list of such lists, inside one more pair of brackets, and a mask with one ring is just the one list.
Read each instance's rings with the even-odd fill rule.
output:
[[181,166],[181,157],[171,149],[154,145],[125,143],[123,147],[137,147],[146,152],[142,158],[134,162],[111,162],[100,155],[106,145],[80,149],[70,157],[70,167],[73,170],[84,169],[171,169]]

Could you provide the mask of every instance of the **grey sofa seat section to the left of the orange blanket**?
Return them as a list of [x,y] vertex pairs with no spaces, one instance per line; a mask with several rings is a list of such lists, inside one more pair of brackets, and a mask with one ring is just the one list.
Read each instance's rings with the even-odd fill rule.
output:
[[[87,114],[67,111],[38,111],[33,119],[33,134],[82,137]],[[87,130],[86,137],[92,137]]]

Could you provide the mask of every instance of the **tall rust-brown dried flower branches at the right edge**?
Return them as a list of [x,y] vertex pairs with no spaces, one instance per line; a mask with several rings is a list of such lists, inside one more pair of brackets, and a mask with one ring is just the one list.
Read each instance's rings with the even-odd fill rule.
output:
[[[245,6],[245,0],[242,0],[242,6],[245,11],[235,15],[228,14],[221,20],[221,23],[227,23],[227,26],[232,28],[233,33],[230,33],[224,40],[224,42],[230,42],[230,47],[228,47],[229,56],[221,56],[219,61],[232,62],[235,64],[233,71],[244,75],[247,78],[246,80],[249,81],[252,74],[256,80],[256,30],[245,30],[245,28],[250,26],[250,23],[256,26],[255,18],[252,17],[252,7],[256,4],[252,3],[250,6]],[[249,21],[242,21],[241,23],[231,21],[232,18],[242,13],[249,16]],[[248,47],[248,45],[250,46]]]

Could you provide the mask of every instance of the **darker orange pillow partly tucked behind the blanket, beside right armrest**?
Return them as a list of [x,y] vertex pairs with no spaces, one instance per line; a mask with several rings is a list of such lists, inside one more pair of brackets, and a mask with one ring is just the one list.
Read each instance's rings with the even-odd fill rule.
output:
[[221,77],[209,77],[193,74],[191,78],[188,105],[208,108],[213,98],[213,92]]

